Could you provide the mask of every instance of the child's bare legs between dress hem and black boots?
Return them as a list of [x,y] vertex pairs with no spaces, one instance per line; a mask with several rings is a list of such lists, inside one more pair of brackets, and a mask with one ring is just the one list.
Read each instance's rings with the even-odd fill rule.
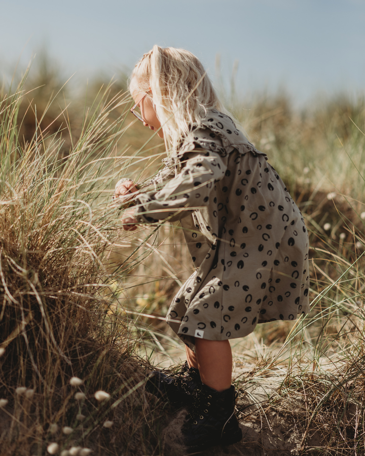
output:
[[188,364],[199,369],[204,385],[217,391],[227,390],[232,383],[232,350],[228,340],[195,338],[194,353],[186,347]]

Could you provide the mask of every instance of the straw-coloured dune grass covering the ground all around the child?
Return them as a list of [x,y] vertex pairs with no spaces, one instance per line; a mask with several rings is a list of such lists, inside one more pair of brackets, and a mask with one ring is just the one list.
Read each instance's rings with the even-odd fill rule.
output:
[[[193,263],[178,225],[126,233],[110,203],[120,177],[154,174],[161,140],[113,85],[80,109],[25,81],[0,99],[0,453],[184,454],[143,385],[151,362],[184,359],[164,316]],[[230,454],[361,455],[364,99],[233,110],[306,219],[312,311],[232,341],[245,438]]]

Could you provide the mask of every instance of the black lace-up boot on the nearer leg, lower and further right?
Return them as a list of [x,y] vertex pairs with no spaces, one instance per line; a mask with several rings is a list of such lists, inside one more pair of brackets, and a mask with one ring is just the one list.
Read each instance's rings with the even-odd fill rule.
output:
[[191,412],[182,426],[182,438],[190,451],[230,445],[242,439],[235,415],[236,396],[233,385],[218,392],[202,384],[195,391]]

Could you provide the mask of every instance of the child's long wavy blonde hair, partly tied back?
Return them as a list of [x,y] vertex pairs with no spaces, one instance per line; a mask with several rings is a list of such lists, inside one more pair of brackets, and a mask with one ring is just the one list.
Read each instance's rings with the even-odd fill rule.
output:
[[167,151],[176,150],[193,125],[201,125],[207,109],[226,112],[203,65],[185,49],[155,45],[134,67],[129,91],[152,98]]

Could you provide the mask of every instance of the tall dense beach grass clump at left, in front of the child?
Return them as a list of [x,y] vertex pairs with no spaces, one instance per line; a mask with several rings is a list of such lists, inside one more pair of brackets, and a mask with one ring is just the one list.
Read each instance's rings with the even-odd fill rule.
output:
[[42,129],[48,103],[24,141],[24,87],[0,94],[1,454],[147,454],[160,412],[113,298],[129,268],[112,259],[124,240],[109,201],[130,97],[102,88],[76,138],[67,105]]

